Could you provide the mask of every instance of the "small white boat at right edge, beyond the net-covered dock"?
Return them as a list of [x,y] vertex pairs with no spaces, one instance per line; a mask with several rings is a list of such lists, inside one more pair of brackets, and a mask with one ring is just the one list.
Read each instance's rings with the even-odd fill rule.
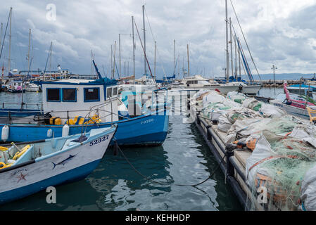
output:
[[282,108],[286,113],[309,120],[310,116],[306,107],[316,110],[315,101],[305,95],[291,94],[286,83],[284,83],[283,88],[284,94],[278,94],[275,99],[270,99],[269,103]]

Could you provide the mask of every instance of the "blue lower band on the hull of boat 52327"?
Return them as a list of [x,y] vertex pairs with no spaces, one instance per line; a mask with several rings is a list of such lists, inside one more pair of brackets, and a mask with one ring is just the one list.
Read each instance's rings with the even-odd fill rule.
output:
[[77,167],[75,169],[71,169],[68,172],[52,176],[48,179],[44,179],[37,183],[16,188],[11,191],[2,192],[0,193],[0,204],[24,198],[28,195],[32,195],[33,193],[42,191],[49,186],[57,186],[59,184],[65,184],[73,181],[79,181],[80,179],[84,179],[86,176],[91,174],[91,172],[97,167],[97,165],[99,165],[100,161],[101,160],[95,160],[94,162],[89,162],[86,165]]

